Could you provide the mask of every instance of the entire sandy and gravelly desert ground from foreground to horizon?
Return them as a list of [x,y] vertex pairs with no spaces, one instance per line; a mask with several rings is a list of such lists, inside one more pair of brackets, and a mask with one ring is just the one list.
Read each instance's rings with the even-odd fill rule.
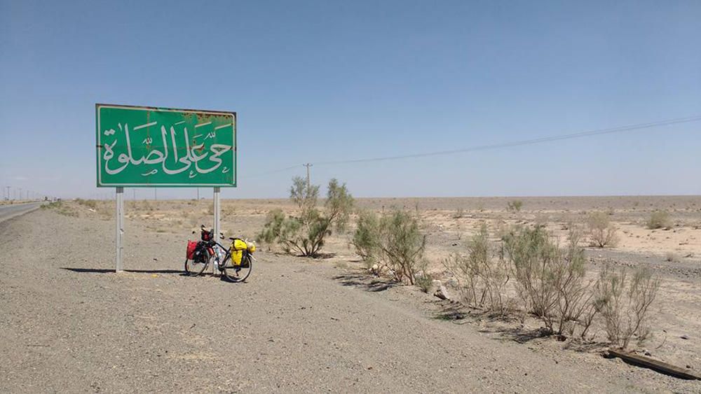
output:
[[[701,197],[356,199],[414,211],[431,274],[482,223],[540,223],[557,237],[604,211],[613,248],[587,246],[588,272],[650,267],[661,280],[652,337],[632,349],[701,370]],[[255,239],[287,199],[225,200],[222,229]],[[665,210],[668,230],[648,230]],[[126,202],[126,272],[114,270],[114,202],[66,201],[0,222],[0,391],[701,392],[686,381],[607,359],[595,339],[536,335],[533,318],[494,318],[416,286],[373,276],[334,233],[321,258],[259,245],[245,283],[183,276],[191,231],[212,202]],[[455,292],[449,288],[449,291]],[[456,293],[454,293],[456,295]],[[457,297],[455,297],[457,298]]]

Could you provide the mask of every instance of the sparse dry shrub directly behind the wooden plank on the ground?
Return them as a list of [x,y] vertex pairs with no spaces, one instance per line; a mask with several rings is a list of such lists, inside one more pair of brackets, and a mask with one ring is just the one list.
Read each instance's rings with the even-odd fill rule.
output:
[[608,340],[626,349],[633,337],[644,341],[650,334],[648,310],[655,300],[660,281],[649,269],[636,269],[631,277],[625,267],[615,270],[606,265],[596,286]]

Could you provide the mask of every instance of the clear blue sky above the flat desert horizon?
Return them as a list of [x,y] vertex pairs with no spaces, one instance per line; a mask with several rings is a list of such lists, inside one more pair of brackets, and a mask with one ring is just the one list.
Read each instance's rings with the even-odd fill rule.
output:
[[[0,186],[111,194],[96,102],[237,111],[227,198],[285,197],[304,167],[260,174],[304,162],[700,115],[700,20],[700,1],[0,0]],[[698,195],[701,122],[312,168],[334,176],[362,197]]]

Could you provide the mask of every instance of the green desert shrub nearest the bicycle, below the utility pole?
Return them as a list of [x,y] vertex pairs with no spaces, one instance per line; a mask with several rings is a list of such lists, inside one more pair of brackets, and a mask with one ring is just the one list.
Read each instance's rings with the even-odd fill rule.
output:
[[268,214],[259,239],[276,242],[285,253],[318,256],[332,227],[343,230],[353,209],[346,184],[336,179],[329,181],[323,212],[317,207],[318,195],[319,186],[307,185],[299,176],[293,178],[290,199],[297,204],[299,216],[285,216],[281,211]]

